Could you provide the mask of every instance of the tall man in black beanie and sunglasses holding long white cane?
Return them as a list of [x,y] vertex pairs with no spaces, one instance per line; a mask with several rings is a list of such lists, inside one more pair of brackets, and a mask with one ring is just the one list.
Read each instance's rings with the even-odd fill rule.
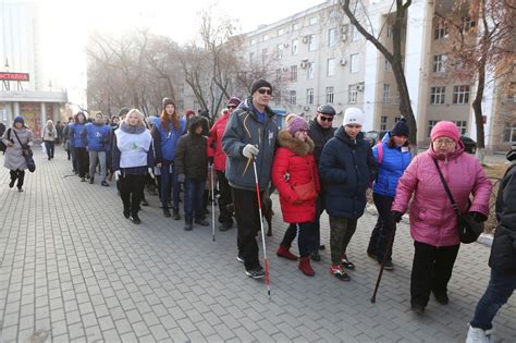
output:
[[237,260],[244,262],[246,274],[254,279],[265,277],[258,259],[256,234],[260,230],[256,181],[253,159],[256,161],[260,198],[271,180],[272,161],[278,137],[278,121],[269,108],[272,85],[258,79],[251,86],[251,96],[243,101],[228,121],[222,137],[222,149],[228,155],[225,176],[232,187],[237,222]]

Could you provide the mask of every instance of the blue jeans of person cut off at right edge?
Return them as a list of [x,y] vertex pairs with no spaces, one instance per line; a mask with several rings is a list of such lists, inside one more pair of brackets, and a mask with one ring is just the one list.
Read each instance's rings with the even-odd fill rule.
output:
[[491,280],[480,298],[470,324],[474,328],[490,330],[493,318],[516,290],[516,272],[491,269]]

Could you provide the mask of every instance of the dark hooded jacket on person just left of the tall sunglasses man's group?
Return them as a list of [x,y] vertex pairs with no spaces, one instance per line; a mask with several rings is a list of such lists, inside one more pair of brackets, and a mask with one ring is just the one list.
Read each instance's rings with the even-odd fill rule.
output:
[[195,133],[202,126],[205,119],[195,115],[189,120],[188,133],[182,136],[175,145],[174,168],[176,174],[184,174],[186,179],[206,180],[208,175],[208,138]]

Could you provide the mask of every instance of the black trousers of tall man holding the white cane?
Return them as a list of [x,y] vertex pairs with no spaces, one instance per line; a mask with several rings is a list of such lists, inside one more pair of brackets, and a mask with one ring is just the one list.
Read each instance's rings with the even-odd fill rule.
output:
[[[232,188],[236,219],[238,256],[244,258],[246,270],[260,266],[256,235],[260,230],[260,215],[256,191]],[[260,198],[263,192],[260,192]]]

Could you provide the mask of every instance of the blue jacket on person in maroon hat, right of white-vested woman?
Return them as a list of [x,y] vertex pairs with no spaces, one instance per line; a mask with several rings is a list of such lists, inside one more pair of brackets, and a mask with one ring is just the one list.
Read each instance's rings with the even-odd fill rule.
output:
[[165,131],[161,121],[157,121],[152,128],[152,140],[155,146],[156,162],[169,164],[174,160],[175,144],[181,136],[184,135],[186,130],[186,121],[184,118],[180,119],[180,127],[173,128],[173,124],[170,123],[171,130]]

